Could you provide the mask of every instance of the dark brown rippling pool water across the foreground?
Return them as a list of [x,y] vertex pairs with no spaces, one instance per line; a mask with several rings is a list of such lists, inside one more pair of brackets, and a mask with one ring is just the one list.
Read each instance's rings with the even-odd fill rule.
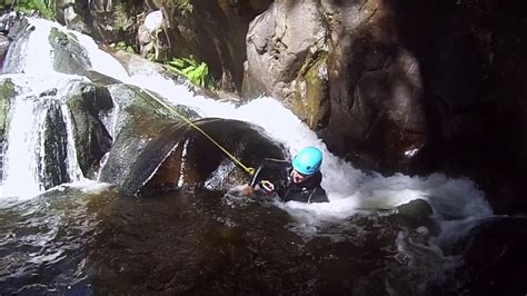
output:
[[458,256],[389,213],[315,224],[275,200],[62,188],[0,209],[2,293],[425,295]]

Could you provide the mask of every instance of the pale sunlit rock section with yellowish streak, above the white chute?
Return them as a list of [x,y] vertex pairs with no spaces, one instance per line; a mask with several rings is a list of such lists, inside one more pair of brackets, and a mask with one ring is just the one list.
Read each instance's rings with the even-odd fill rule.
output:
[[327,34],[320,3],[278,1],[270,6],[247,33],[243,96],[274,96],[311,128],[326,126]]

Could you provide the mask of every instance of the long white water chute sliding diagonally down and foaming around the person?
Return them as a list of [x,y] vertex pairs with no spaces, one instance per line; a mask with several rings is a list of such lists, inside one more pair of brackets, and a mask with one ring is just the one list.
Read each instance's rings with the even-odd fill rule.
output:
[[[38,38],[42,38],[40,34],[49,32],[51,27],[69,31],[46,20],[33,19],[31,22],[38,28],[31,34],[31,40],[33,38],[39,40]],[[310,205],[295,201],[287,203],[284,207],[292,215],[305,217],[307,220],[317,220],[324,217],[345,218],[364,208],[394,208],[417,198],[428,200],[439,220],[443,219],[445,213],[451,210],[458,214],[460,220],[478,219],[491,215],[491,209],[483,193],[475,187],[471,180],[450,179],[441,174],[434,174],[425,178],[409,177],[401,174],[391,177],[366,175],[355,169],[352,164],[346,162],[329,152],[326,145],[317,138],[314,131],[272,98],[259,98],[236,108],[229,102],[193,96],[185,86],[175,85],[173,81],[167,80],[155,72],[130,77],[117,60],[99,50],[91,38],[78,32],[72,33],[78,37],[86,48],[95,71],[157,92],[173,103],[193,107],[202,117],[238,119],[258,125],[266,130],[269,137],[282,142],[289,149],[290,155],[295,155],[308,145],[320,148],[325,155],[321,167],[322,186],[329,195],[330,203]],[[43,43],[47,43],[47,41]],[[48,46],[42,43],[39,43],[39,47],[28,46],[27,50],[28,52],[24,53],[27,58],[23,63],[26,67],[22,69],[24,72],[44,73],[46,76],[50,75],[50,71],[52,72],[50,65],[43,62],[49,61],[50,48]],[[37,61],[39,62],[38,68],[34,66]],[[17,111],[19,107],[16,107]],[[12,125],[11,128],[18,128],[14,126],[16,122],[12,122]],[[16,142],[22,141],[22,139],[10,138],[9,144],[12,147],[18,145]],[[11,157],[9,155],[9,158]],[[8,178],[11,178],[11,174],[9,171]],[[28,177],[20,175],[17,178]]]

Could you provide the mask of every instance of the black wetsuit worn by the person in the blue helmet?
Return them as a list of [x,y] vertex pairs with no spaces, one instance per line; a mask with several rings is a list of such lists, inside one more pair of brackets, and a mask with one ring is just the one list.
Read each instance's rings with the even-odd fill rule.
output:
[[317,171],[309,176],[302,182],[294,182],[291,162],[266,158],[252,176],[250,186],[255,187],[258,182],[266,179],[272,182],[275,191],[284,201],[297,200],[302,203],[326,203],[328,196],[320,186],[322,174]]

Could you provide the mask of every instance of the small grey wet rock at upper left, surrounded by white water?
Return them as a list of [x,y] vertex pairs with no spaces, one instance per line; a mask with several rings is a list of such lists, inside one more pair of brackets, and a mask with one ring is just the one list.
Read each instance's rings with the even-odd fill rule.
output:
[[91,62],[84,48],[73,34],[52,28],[49,42],[53,48],[53,69],[63,73],[86,76]]

